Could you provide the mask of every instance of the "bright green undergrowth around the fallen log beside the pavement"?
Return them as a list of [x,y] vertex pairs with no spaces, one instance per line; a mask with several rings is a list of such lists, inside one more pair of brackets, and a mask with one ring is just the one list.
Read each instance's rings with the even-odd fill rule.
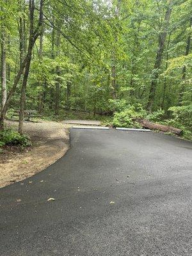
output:
[[[111,118],[102,122],[111,127],[141,128],[136,118],[145,118],[158,124],[170,125],[182,130],[181,138],[192,140],[192,106],[180,106],[168,109],[168,116],[162,109],[147,113],[140,104],[124,106],[118,104]],[[173,135],[173,134],[172,134]]]

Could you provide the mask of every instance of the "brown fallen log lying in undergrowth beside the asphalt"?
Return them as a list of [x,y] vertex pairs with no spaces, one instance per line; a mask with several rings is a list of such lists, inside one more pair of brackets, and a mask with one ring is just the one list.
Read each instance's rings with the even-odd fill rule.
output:
[[159,130],[163,132],[173,132],[177,135],[182,135],[182,130],[169,126],[169,125],[163,125],[163,124],[156,124],[153,122],[150,122],[146,119],[136,118],[136,122],[138,122],[140,125],[142,125],[145,128],[152,129],[152,130]]

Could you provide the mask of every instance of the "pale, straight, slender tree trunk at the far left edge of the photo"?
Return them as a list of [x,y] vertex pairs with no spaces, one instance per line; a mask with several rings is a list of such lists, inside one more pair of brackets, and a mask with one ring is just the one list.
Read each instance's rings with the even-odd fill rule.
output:
[[1,109],[6,103],[6,32],[1,26]]

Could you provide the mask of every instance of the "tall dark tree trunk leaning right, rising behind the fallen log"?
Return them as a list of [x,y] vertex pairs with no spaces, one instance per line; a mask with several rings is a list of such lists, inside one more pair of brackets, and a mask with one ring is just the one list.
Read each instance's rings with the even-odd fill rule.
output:
[[150,91],[149,91],[149,97],[148,97],[148,103],[147,103],[147,110],[149,112],[152,112],[152,106],[153,106],[154,98],[156,95],[157,79],[159,78],[159,69],[161,68],[161,62],[163,59],[164,44],[166,41],[168,25],[169,25],[170,16],[172,13],[171,3],[172,1],[169,1],[169,6],[166,9],[166,13],[164,17],[163,32],[159,35],[159,45],[157,49],[156,61],[155,61],[154,70],[152,74],[152,81],[150,84]]

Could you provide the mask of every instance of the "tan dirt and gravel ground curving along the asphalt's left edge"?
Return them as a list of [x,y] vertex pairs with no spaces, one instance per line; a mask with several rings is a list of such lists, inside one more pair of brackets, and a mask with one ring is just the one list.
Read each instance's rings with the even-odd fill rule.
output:
[[[6,124],[18,126],[14,121]],[[68,127],[58,122],[25,122],[24,132],[33,146],[25,150],[8,147],[0,154],[0,188],[31,177],[62,157],[68,150]]]

